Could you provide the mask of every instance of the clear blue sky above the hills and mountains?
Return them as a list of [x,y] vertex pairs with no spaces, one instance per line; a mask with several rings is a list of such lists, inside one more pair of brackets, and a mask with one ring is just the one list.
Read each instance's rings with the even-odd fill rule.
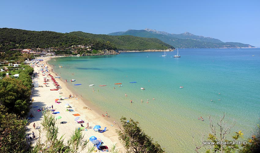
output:
[[4,0],[0,8],[0,28],[94,34],[150,28],[260,47],[259,0]]

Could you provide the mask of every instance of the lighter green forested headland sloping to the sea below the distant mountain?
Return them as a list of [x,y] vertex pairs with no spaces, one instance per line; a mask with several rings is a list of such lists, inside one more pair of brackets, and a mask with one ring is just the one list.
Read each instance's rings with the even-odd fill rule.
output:
[[117,50],[163,50],[174,49],[173,46],[162,42],[156,38],[143,38],[131,35],[96,35],[91,33],[85,33],[81,31],[70,32],[70,35],[77,35],[87,39],[96,39],[99,41],[109,41],[117,47]]

